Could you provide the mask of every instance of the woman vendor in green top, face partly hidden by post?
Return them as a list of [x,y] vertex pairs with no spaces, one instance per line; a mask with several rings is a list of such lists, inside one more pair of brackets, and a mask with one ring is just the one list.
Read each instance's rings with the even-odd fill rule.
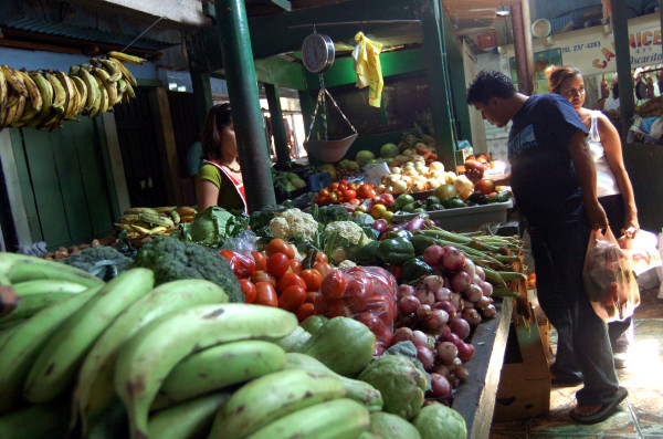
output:
[[196,176],[198,210],[220,206],[248,212],[230,104],[210,109],[200,142],[203,165]]

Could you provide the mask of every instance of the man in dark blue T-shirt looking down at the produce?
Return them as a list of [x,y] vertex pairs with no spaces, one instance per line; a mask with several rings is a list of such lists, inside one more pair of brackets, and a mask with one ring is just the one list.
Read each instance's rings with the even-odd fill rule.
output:
[[517,93],[499,72],[480,72],[467,91],[467,104],[497,127],[513,123],[512,170],[488,178],[497,185],[511,184],[532,238],[541,310],[558,331],[572,334],[568,343],[582,376],[561,377],[566,365],[551,367],[559,381],[585,383],[570,416],[583,424],[600,422],[628,393],[617,379],[607,325],[593,312],[582,284],[590,230],[608,227],[597,199],[587,129],[564,97]]

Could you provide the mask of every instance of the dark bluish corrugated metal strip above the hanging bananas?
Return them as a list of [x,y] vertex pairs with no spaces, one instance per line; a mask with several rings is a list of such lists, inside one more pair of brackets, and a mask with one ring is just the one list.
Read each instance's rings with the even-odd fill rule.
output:
[[[45,35],[57,35],[71,38],[82,41],[91,41],[96,43],[127,45],[136,35],[126,35],[113,32],[106,32],[98,29],[81,28],[67,23],[55,23],[52,21],[39,20],[34,18],[22,18],[3,24],[7,29],[17,29],[27,32],[43,33]],[[158,51],[179,44],[167,41],[158,41],[141,36],[138,41],[131,44],[137,49]]]

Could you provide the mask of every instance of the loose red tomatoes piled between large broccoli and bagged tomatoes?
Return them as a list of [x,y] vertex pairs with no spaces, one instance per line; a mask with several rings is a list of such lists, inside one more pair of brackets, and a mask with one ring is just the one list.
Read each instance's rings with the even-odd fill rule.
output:
[[220,254],[240,281],[246,303],[278,306],[295,313],[299,322],[316,314],[323,280],[333,270],[322,252],[313,268],[304,270],[292,245],[277,238],[270,241],[264,253],[253,251],[248,257],[222,250]]

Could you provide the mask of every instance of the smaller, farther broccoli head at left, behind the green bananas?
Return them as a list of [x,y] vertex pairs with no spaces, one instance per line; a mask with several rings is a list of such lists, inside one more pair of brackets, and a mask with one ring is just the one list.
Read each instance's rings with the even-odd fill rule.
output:
[[107,282],[126,271],[131,264],[131,259],[113,247],[95,245],[61,259],[60,262],[84,270]]

